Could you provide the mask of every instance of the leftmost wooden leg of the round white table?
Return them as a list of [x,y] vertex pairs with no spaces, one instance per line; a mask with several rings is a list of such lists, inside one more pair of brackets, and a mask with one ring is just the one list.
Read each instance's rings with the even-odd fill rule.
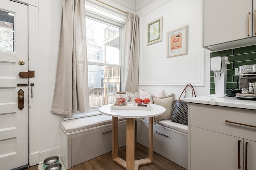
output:
[[112,159],[118,157],[118,117],[112,117]]

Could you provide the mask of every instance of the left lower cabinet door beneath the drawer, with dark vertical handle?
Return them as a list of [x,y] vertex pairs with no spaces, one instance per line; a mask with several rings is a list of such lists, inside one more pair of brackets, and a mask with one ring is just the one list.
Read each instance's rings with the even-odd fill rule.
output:
[[238,166],[242,170],[243,139],[190,126],[190,170],[236,170]]

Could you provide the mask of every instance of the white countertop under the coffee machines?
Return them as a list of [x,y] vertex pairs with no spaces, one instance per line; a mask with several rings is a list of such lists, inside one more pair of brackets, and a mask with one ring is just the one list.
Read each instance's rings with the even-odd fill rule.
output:
[[235,97],[217,98],[210,96],[197,96],[192,98],[185,98],[185,102],[209,104],[216,106],[237,107],[243,109],[256,110],[256,100],[240,100]]

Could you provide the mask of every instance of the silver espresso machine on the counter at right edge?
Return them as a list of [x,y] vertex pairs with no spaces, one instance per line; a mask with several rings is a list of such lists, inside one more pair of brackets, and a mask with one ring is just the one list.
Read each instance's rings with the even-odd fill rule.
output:
[[238,99],[256,100],[256,64],[238,67],[238,84],[242,95],[236,95]]

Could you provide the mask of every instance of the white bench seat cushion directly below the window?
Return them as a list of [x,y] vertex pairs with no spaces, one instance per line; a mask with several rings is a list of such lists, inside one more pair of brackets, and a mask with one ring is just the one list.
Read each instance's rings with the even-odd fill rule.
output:
[[[126,118],[118,117],[118,121],[125,120]],[[95,115],[89,117],[82,117],[77,119],[65,120],[60,123],[60,127],[65,133],[72,133],[92,127],[98,127],[112,123],[112,116],[108,115]]]

